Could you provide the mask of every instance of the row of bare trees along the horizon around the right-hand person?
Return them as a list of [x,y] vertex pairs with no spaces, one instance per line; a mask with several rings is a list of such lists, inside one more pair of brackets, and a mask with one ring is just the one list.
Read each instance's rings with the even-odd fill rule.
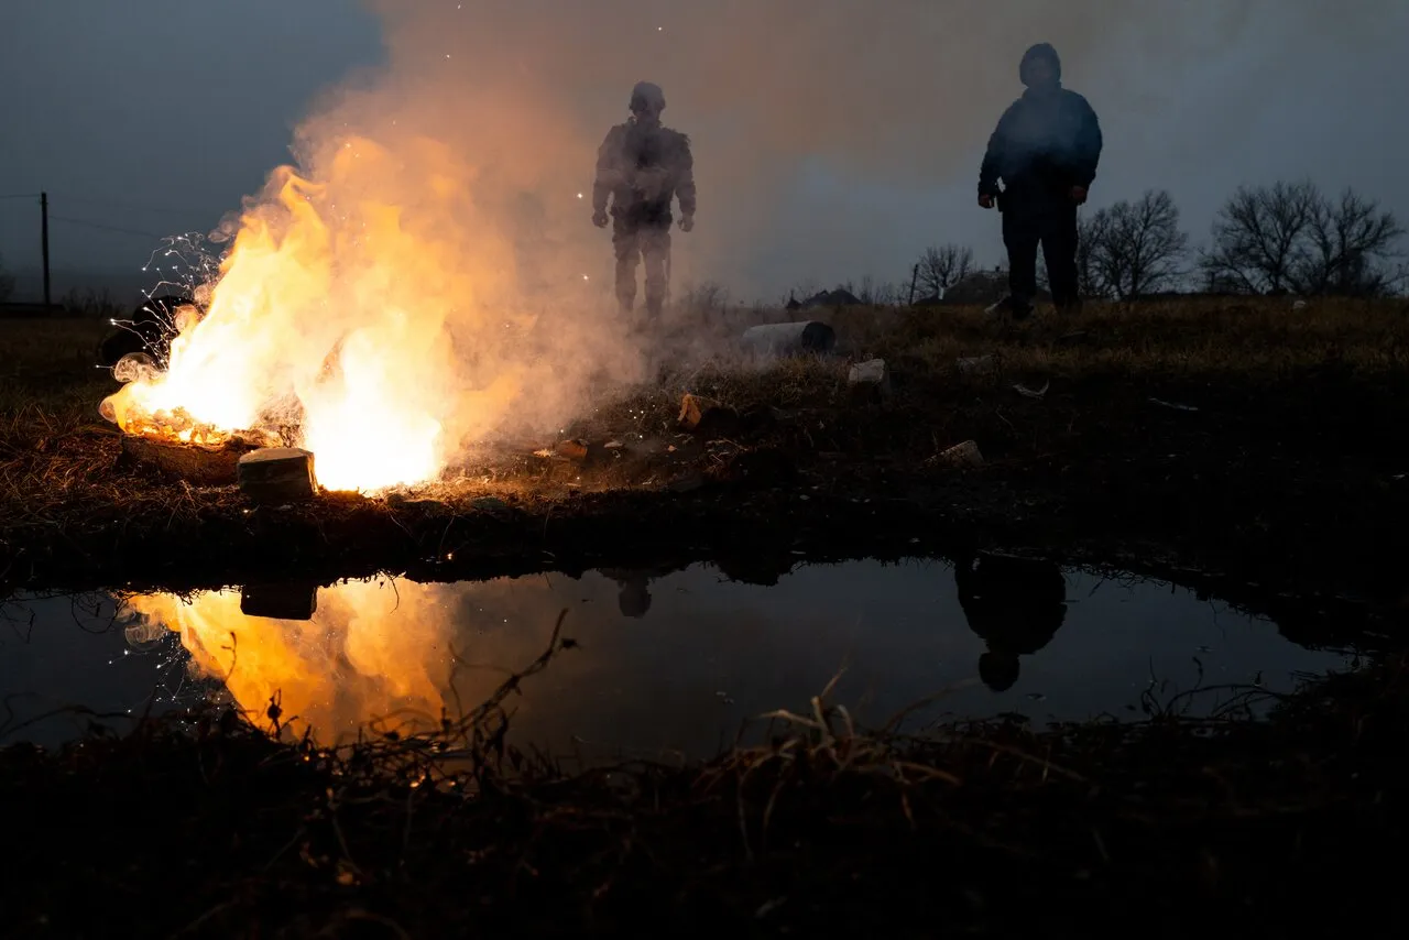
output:
[[[1409,289],[1392,211],[1353,189],[1315,183],[1240,186],[1219,209],[1209,242],[1192,248],[1168,190],[1084,213],[1076,271],[1088,297],[1130,300],[1181,287],[1212,293],[1378,297]],[[938,297],[975,272],[965,245],[926,248],[914,296]]]

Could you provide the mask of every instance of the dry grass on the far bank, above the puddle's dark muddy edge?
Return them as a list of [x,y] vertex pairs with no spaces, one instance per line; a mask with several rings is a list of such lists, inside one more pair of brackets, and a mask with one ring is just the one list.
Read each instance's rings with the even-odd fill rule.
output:
[[[734,457],[769,450],[805,474],[814,500],[805,509],[827,506],[838,526],[838,506],[890,496],[905,485],[910,492],[926,488],[934,502],[913,506],[912,514],[961,505],[971,516],[988,513],[1006,526],[1014,505],[1034,507],[1026,513],[1030,524],[1045,519],[1053,530],[1030,534],[1034,540],[1055,538],[1068,526],[1068,541],[1079,531],[1107,543],[1178,538],[1202,550],[1247,538],[1243,548],[1261,555],[1286,543],[1277,538],[1277,527],[1291,524],[1292,499],[1308,506],[1298,516],[1308,545],[1350,538],[1350,530],[1367,521],[1399,531],[1389,526],[1403,503],[1392,475],[1402,469],[1396,454],[1409,420],[1403,302],[1315,303],[1299,311],[1271,300],[1092,306],[1076,320],[1038,317],[1020,326],[972,309],[851,309],[823,319],[833,321],[847,355],[762,368],[682,361],[658,382],[603,395],[569,435],[599,443],[668,437],[683,392],[741,412],[781,410],[786,414],[764,430],[721,444],[728,452],[702,450],[699,466],[671,472],[727,476]],[[85,321],[0,323],[0,361],[15,376],[0,393],[0,572],[21,555],[38,576],[49,559],[96,572],[117,552],[187,557],[224,541],[228,552],[244,552],[252,538],[268,538],[254,534],[256,527],[276,523],[299,527],[302,552],[347,551],[352,544],[372,551],[373,543],[396,551],[449,552],[459,545],[483,552],[490,537],[464,531],[483,521],[485,513],[473,509],[482,496],[509,499],[533,516],[510,534],[523,540],[533,531],[540,544],[583,513],[596,512],[604,521],[614,512],[647,513],[669,530],[683,524],[672,513],[693,512],[686,500],[661,497],[658,490],[674,479],[669,474],[626,482],[583,474],[568,485],[489,466],[458,489],[421,493],[435,500],[435,512],[424,502],[396,507],[330,497],[282,521],[251,516],[232,489],[194,489],[117,465],[118,440],[96,414],[113,383],[89,366],[94,337],[94,326]],[[895,372],[895,395],[883,406],[854,400],[845,381],[850,361],[872,355],[886,358]],[[996,368],[958,369],[960,357],[979,355],[992,355]],[[1024,399],[1013,392],[1014,382],[1050,383],[1050,392]],[[988,459],[982,472],[926,462],[964,440],[979,443]],[[655,489],[641,489],[645,479]],[[613,488],[624,493],[616,502],[572,499]],[[1026,490],[1020,503],[1013,488]],[[631,502],[627,490],[640,499]],[[761,499],[752,510],[758,517],[790,512],[786,489],[772,503]],[[1112,499],[1120,502],[1119,512],[1112,512]],[[1160,506],[1169,509],[1155,512]],[[727,509],[744,512],[738,499]],[[1116,521],[1126,528],[1106,531]],[[859,517],[854,523],[861,524]],[[692,524],[709,528],[703,519]],[[1284,562],[1270,557],[1268,564]],[[1337,564],[1350,571],[1361,561]]]

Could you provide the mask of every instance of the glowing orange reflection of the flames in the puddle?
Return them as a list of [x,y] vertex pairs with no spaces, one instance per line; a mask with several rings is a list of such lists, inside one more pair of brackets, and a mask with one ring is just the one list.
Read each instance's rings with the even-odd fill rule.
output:
[[313,730],[325,744],[369,724],[430,730],[447,706],[449,617],[426,585],[341,583],[320,592],[311,620],[245,616],[238,590],[142,595],[128,606],[144,616],[130,640],[163,624],[180,634],[192,669],[221,681],[251,717],[273,699],[292,733]]

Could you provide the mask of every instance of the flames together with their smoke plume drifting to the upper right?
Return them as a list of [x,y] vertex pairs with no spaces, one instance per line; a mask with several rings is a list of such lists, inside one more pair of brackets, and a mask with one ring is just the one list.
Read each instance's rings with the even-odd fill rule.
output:
[[[204,397],[197,419],[240,427],[292,386],[320,468],[371,486],[424,479],[496,430],[559,427],[603,381],[647,375],[651,351],[612,302],[609,235],[589,223],[596,148],[637,80],[664,86],[665,123],[693,141],[699,216],[674,233],[676,297],[703,280],[747,297],[778,286],[783,244],[795,261],[834,259],[874,240],[886,220],[848,187],[903,207],[972,178],[1031,42],[1058,48],[1102,114],[1148,113],[1229,49],[1285,69],[1285,49],[1353,41],[1396,8],[368,3],[386,65],[310,110],[297,176],[276,172],[247,206],[211,314],[173,348],[170,393],[144,407]],[[1275,42],[1261,41],[1270,24]],[[1099,75],[1129,80],[1089,87]]]

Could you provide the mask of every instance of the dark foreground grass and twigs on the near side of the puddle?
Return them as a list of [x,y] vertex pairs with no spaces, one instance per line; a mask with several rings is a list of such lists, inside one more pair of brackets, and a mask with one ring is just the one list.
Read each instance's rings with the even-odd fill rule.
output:
[[1210,919],[1378,936],[1401,905],[1378,888],[1409,779],[1402,655],[1260,723],[1157,709],[902,736],[855,727],[823,691],[713,761],[572,772],[506,741],[517,689],[561,655],[559,620],[537,661],[420,737],[276,741],[271,709],[0,751],[0,826],[27,875],[0,888],[7,926],[933,936],[1138,917],[1161,936]]

